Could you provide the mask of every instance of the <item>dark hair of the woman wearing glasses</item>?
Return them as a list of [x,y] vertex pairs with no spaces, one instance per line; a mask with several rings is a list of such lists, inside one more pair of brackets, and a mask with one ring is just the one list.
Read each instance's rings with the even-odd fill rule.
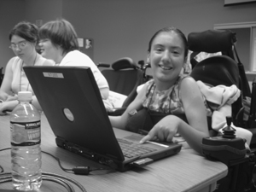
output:
[[38,26],[30,22],[21,21],[9,32],[10,41],[14,35],[17,35],[20,38],[24,38],[26,39],[26,41],[30,43],[37,44],[38,43]]

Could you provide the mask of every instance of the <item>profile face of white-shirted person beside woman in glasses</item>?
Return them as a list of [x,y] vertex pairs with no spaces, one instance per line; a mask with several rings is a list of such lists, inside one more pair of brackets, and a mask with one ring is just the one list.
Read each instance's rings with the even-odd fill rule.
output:
[[41,50],[41,55],[49,60],[53,60],[56,62],[56,58],[59,55],[59,49],[51,43],[49,39],[42,39],[39,42],[39,47]]

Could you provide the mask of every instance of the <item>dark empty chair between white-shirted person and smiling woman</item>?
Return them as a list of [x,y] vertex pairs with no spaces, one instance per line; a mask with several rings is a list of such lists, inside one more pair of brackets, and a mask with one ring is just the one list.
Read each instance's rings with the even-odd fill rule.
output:
[[137,86],[143,84],[143,71],[130,57],[120,58],[112,65],[99,63],[97,66],[111,67],[102,70],[102,74],[108,81],[109,90],[127,96],[122,108],[108,112],[109,115],[120,115],[137,96]]

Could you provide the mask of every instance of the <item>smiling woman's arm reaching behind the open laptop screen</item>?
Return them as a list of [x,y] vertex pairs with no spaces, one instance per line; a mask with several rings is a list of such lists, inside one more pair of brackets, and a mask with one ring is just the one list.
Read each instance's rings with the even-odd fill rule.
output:
[[143,108],[143,100],[145,99],[147,86],[143,86],[143,89],[138,92],[137,97],[134,99],[133,102],[130,103],[128,108],[126,108],[125,112],[121,116],[109,116],[111,125],[115,128],[125,129],[125,125],[129,118],[129,113],[136,109],[137,111]]

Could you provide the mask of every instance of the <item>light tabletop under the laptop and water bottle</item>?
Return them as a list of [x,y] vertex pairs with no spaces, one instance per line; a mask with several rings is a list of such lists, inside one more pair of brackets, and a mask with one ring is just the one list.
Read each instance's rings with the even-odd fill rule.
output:
[[[74,166],[96,166],[90,160],[72,154],[55,144],[55,136],[49,127],[48,120],[42,114],[42,143],[43,151],[55,155],[61,160],[61,165],[72,169]],[[0,149],[9,148],[9,115],[0,116]],[[182,149],[179,154],[141,169],[128,172],[96,171],[89,176],[74,175],[61,170],[57,161],[48,154],[42,154],[43,172],[54,172],[66,177],[72,177],[81,183],[87,191],[212,191],[215,183],[227,175],[228,169],[221,162],[206,160],[195,154],[192,149]],[[10,169],[10,151],[0,152],[0,166],[5,172]],[[11,189],[11,183],[1,183],[0,189]],[[40,191],[66,191],[61,185],[43,181]],[[76,191],[80,191],[77,189]]]

